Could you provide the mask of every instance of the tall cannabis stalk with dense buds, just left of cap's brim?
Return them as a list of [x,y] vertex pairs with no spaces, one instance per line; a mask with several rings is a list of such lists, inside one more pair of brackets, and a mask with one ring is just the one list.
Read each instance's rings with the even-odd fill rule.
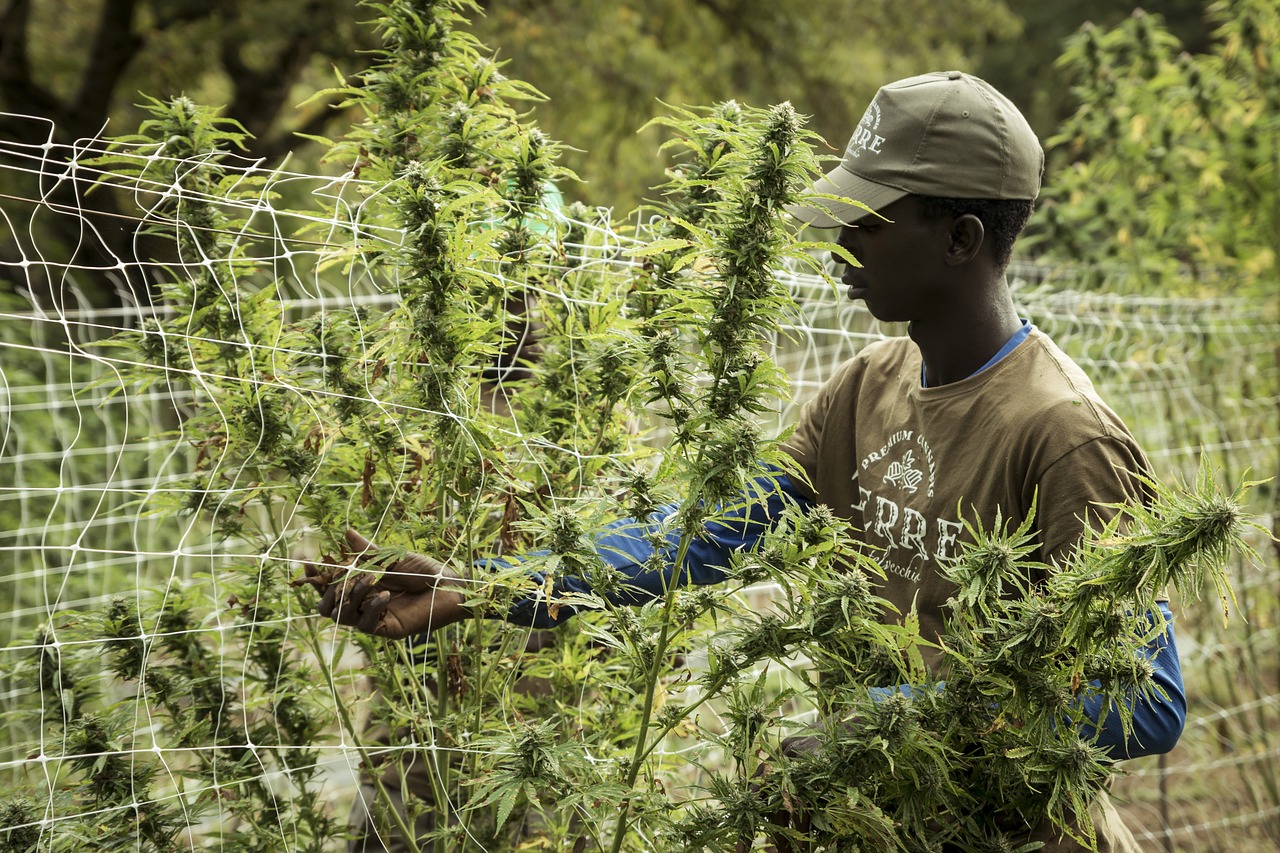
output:
[[[662,289],[644,297],[649,306],[657,306],[645,318],[652,329],[648,337],[662,342],[653,345],[653,351],[660,364],[654,375],[663,380],[654,384],[650,396],[668,406],[677,451],[676,461],[668,465],[682,467],[673,476],[685,487],[677,521],[681,537],[673,558],[678,578],[701,525],[730,508],[726,502],[742,500],[740,496],[760,474],[762,465],[778,470],[785,465],[777,441],[760,438],[755,418],[786,387],[765,350],[768,336],[794,309],[777,273],[783,261],[809,256],[796,247],[782,210],[808,186],[814,163],[800,118],[790,104],[764,114],[726,104],[707,115],[685,113],[660,123],[669,126],[677,143],[694,155],[687,167],[677,168],[667,186],[673,197],[668,222],[682,236],[659,241],[660,251],[650,247],[645,252],[659,260],[675,255],[653,278]],[[680,218],[686,211],[699,224]],[[686,270],[684,280],[680,270]],[[691,314],[694,325],[680,319],[677,311],[686,318]],[[668,348],[669,336],[681,329],[696,330],[699,366],[705,365],[710,377],[707,387],[696,392],[667,380],[671,371],[666,362],[675,357]],[[653,751],[654,695],[677,629],[673,611],[678,587],[669,584],[662,603],[626,788],[635,786],[643,760]],[[631,802],[627,798],[622,803],[614,853],[627,835]]]

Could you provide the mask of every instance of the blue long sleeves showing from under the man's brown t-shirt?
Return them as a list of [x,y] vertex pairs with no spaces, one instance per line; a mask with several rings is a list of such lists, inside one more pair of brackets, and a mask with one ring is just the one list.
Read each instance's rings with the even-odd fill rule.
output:
[[[753,493],[753,500],[708,523],[703,534],[690,543],[684,564],[678,569],[675,566],[675,560],[680,546],[680,532],[676,524],[671,524],[680,510],[677,503],[659,507],[645,521],[621,519],[609,524],[596,535],[595,549],[600,560],[616,569],[625,581],[616,592],[607,596],[608,599],[623,606],[641,605],[660,598],[673,583],[681,585],[722,583],[727,579],[726,570],[732,555],[754,548],[788,505],[801,508],[814,506],[785,474],[763,475],[753,480],[748,491]],[[659,560],[654,560],[657,549],[663,551]],[[493,564],[511,565],[511,561],[492,561]],[[653,567],[655,565],[662,567],[655,570]],[[538,589],[544,588],[545,578],[540,573],[531,573],[531,578]],[[554,628],[577,612],[572,605],[557,602],[561,597],[573,593],[598,594],[584,578],[556,575],[550,599],[540,593],[531,594],[516,602],[504,619],[517,625]],[[553,607],[549,608],[549,605]],[[1128,733],[1120,725],[1120,715],[1115,712],[1106,715],[1098,731],[1102,698],[1091,695],[1083,701],[1085,716],[1092,722],[1082,734],[1087,738],[1098,734],[1097,744],[1115,758],[1137,758],[1169,752],[1178,743],[1187,720],[1187,697],[1178,647],[1174,642],[1172,613],[1165,603],[1161,603],[1160,608],[1165,617],[1165,631],[1147,646],[1146,653],[1153,663],[1155,681],[1167,698],[1132,699],[1129,704],[1133,717]],[[909,690],[909,686],[906,689]]]

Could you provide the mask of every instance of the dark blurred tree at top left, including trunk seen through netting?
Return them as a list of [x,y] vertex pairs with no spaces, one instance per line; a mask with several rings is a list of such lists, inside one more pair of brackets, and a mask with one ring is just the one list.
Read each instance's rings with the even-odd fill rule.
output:
[[[346,73],[362,68],[367,60],[360,47],[372,40],[349,0],[5,0],[0,110],[12,115],[0,115],[0,138],[22,151],[72,145],[104,128],[128,133],[142,118],[134,106],[140,93],[187,93],[225,105],[224,115],[253,134],[247,155],[278,160],[298,147],[294,132],[319,133],[339,119],[330,101],[297,105],[332,82],[333,65]],[[27,150],[31,158],[44,151]],[[35,164],[13,160],[3,164],[9,167],[0,186],[6,206],[36,197]],[[74,181],[44,186],[38,195],[46,207],[12,219],[38,216],[40,252],[59,264],[110,266],[113,255],[146,252],[146,246],[134,247],[138,236],[116,215],[110,193],[86,199],[82,191]],[[59,215],[61,205],[91,213],[96,233],[87,236],[77,216]],[[33,238],[24,231],[10,227],[0,234],[0,260],[33,256]],[[13,268],[0,269],[15,275]],[[97,306],[147,298],[145,287],[122,289],[120,282],[92,273],[82,278],[81,295]],[[24,269],[9,286],[32,291],[42,302],[59,298],[61,287],[44,280],[38,269]]]

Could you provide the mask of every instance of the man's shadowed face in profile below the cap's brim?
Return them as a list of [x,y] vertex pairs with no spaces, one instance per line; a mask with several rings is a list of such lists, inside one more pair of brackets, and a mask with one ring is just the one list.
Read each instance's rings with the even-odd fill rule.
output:
[[[841,282],[878,320],[920,320],[946,309],[948,296],[947,220],[924,219],[908,196],[840,229],[836,242],[861,266],[845,265]],[[837,264],[844,264],[833,256]]]

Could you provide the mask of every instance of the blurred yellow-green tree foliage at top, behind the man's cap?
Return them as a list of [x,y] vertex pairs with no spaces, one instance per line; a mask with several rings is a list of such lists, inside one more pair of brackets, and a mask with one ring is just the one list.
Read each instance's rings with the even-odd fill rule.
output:
[[584,149],[566,163],[576,195],[634,207],[663,181],[662,129],[636,129],[675,106],[790,100],[844,151],[883,83],[972,68],[983,45],[1019,24],[1005,0],[484,0],[475,32],[550,100],[539,124]]

